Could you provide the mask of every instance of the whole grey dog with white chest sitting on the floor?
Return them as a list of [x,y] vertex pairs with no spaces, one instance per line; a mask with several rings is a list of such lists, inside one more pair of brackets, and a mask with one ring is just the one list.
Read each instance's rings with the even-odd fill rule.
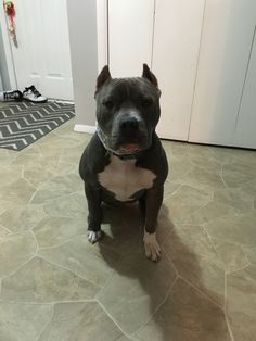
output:
[[101,203],[139,201],[146,257],[157,261],[156,222],[168,174],[155,132],[161,115],[157,79],[146,64],[142,77],[112,78],[104,66],[97,79],[98,129],[81,155],[79,173],[88,201],[88,239],[101,239]]

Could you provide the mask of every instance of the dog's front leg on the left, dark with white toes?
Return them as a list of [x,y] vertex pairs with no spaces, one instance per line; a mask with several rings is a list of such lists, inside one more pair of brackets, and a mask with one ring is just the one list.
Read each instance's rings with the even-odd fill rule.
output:
[[92,244],[101,239],[101,220],[102,220],[102,209],[101,209],[101,192],[94,190],[90,186],[85,185],[85,191],[88,202],[88,240]]

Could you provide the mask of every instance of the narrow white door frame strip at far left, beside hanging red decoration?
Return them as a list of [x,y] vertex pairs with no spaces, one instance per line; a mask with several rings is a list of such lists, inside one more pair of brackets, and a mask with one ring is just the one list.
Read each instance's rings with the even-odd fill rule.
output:
[[7,68],[7,74],[9,76],[9,79],[5,79],[5,80],[8,80],[7,83],[10,84],[11,89],[16,89],[17,80],[16,80],[16,73],[15,73],[12,49],[11,49],[12,41],[10,40],[7,16],[3,9],[3,1],[1,1],[0,3],[0,25],[1,25],[1,31],[2,31],[3,53],[5,54],[5,61],[7,61],[7,64],[4,63],[5,64],[4,66]]

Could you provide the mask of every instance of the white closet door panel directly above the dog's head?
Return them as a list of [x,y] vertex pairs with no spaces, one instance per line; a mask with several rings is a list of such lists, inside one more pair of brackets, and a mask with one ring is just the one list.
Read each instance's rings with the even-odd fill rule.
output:
[[108,56],[114,77],[140,76],[151,65],[154,0],[108,0]]

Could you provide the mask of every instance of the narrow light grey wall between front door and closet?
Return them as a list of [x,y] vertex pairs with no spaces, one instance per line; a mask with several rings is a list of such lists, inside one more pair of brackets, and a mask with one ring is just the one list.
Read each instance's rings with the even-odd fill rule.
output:
[[67,0],[76,125],[95,125],[97,2]]

